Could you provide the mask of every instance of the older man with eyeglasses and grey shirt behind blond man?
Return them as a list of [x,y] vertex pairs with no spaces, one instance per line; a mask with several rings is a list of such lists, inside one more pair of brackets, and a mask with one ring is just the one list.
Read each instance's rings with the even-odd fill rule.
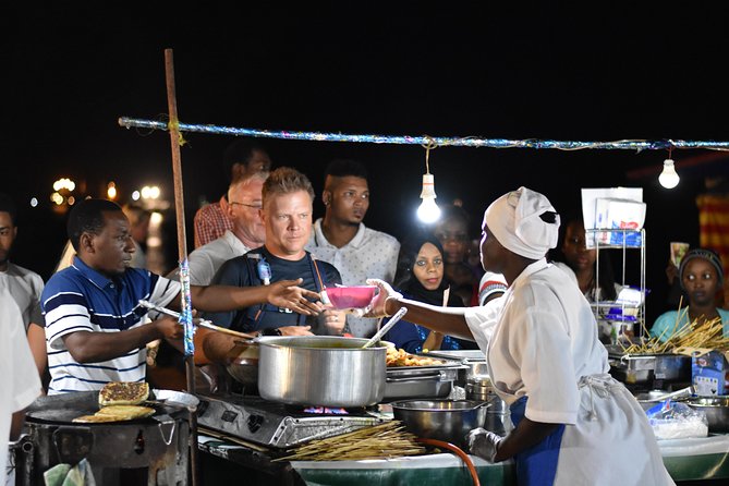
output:
[[[210,284],[212,276],[226,260],[264,245],[266,227],[260,219],[262,190],[268,173],[260,170],[230,184],[226,215],[233,222],[233,228],[190,254],[191,284]],[[170,278],[177,280],[179,269],[170,274]]]

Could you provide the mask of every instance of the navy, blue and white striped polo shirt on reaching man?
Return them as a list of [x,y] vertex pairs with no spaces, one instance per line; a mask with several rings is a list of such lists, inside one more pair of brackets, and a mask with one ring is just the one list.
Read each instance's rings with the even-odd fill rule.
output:
[[180,293],[180,282],[141,268],[129,268],[108,279],[74,257],[73,265],[53,275],[41,305],[46,320],[48,394],[99,390],[109,381],[144,381],[146,348],[100,363],[77,363],[65,349],[63,336],[76,331],[120,332],[145,323],[139,299],[160,306]]

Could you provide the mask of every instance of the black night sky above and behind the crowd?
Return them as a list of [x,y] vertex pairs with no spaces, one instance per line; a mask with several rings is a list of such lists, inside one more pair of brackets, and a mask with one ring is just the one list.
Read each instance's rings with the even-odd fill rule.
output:
[[[178,109],[186,123],[517,139],[729,139],[728,9],[714,2],[154,3],[0,8],[0,191],[21,206],[14,260],[44,278],[65,241],[64,217],[48,202],[58,178],[71,177],[83,183],[80,192],[95,196],[113,180],[120,202],[148,183],[172,196],[169,135],[118,124],[120,117],[167,112],[166,48],[174,50]],[[202,199],[224,191],[221,157],[232,137],[185,138],[192,250],[192,216]],[[317,194],[332,158],[365,162],[373,194],[365,222],[398,238],[414,228],[422,147],[262,143],[275,167],[304,171]],[[474,236],[486,205],[520,185],[543,192],[563,214],[579,211],[581,187],[643,187],[652,319],[665,309],[668,242],[698,243],[695,197],[706,178],[727,172],[719,153],[675,150],[681,183],[665,190],[657,175],[667,156],[440,147],[430,170],[439,203],[463,199]],[[32,196],[41,202],[35,209]],[[323,212],[318,201],[315,212]],[[174,241],[168,244],[174,253]]]

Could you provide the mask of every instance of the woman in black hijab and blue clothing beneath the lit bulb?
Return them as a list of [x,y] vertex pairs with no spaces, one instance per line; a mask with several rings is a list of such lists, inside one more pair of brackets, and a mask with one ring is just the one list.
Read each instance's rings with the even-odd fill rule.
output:
[[[435,306],[463,307],[461,299],[451,293],[444,274],[444,248],[436,238],[420,234],[400,247],[394,285],[404,297]],[[409,353],[461,349],[454,338],[406,320],[396,324],[382,339]]]

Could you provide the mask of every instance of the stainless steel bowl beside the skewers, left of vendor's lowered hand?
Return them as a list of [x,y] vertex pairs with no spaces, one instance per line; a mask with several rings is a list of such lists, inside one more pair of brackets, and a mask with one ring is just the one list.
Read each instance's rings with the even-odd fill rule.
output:
[[418,437],[465,446],[465,436],[486,423],[488,403],[474,400],[403,400],[392,402],[394,418]]

